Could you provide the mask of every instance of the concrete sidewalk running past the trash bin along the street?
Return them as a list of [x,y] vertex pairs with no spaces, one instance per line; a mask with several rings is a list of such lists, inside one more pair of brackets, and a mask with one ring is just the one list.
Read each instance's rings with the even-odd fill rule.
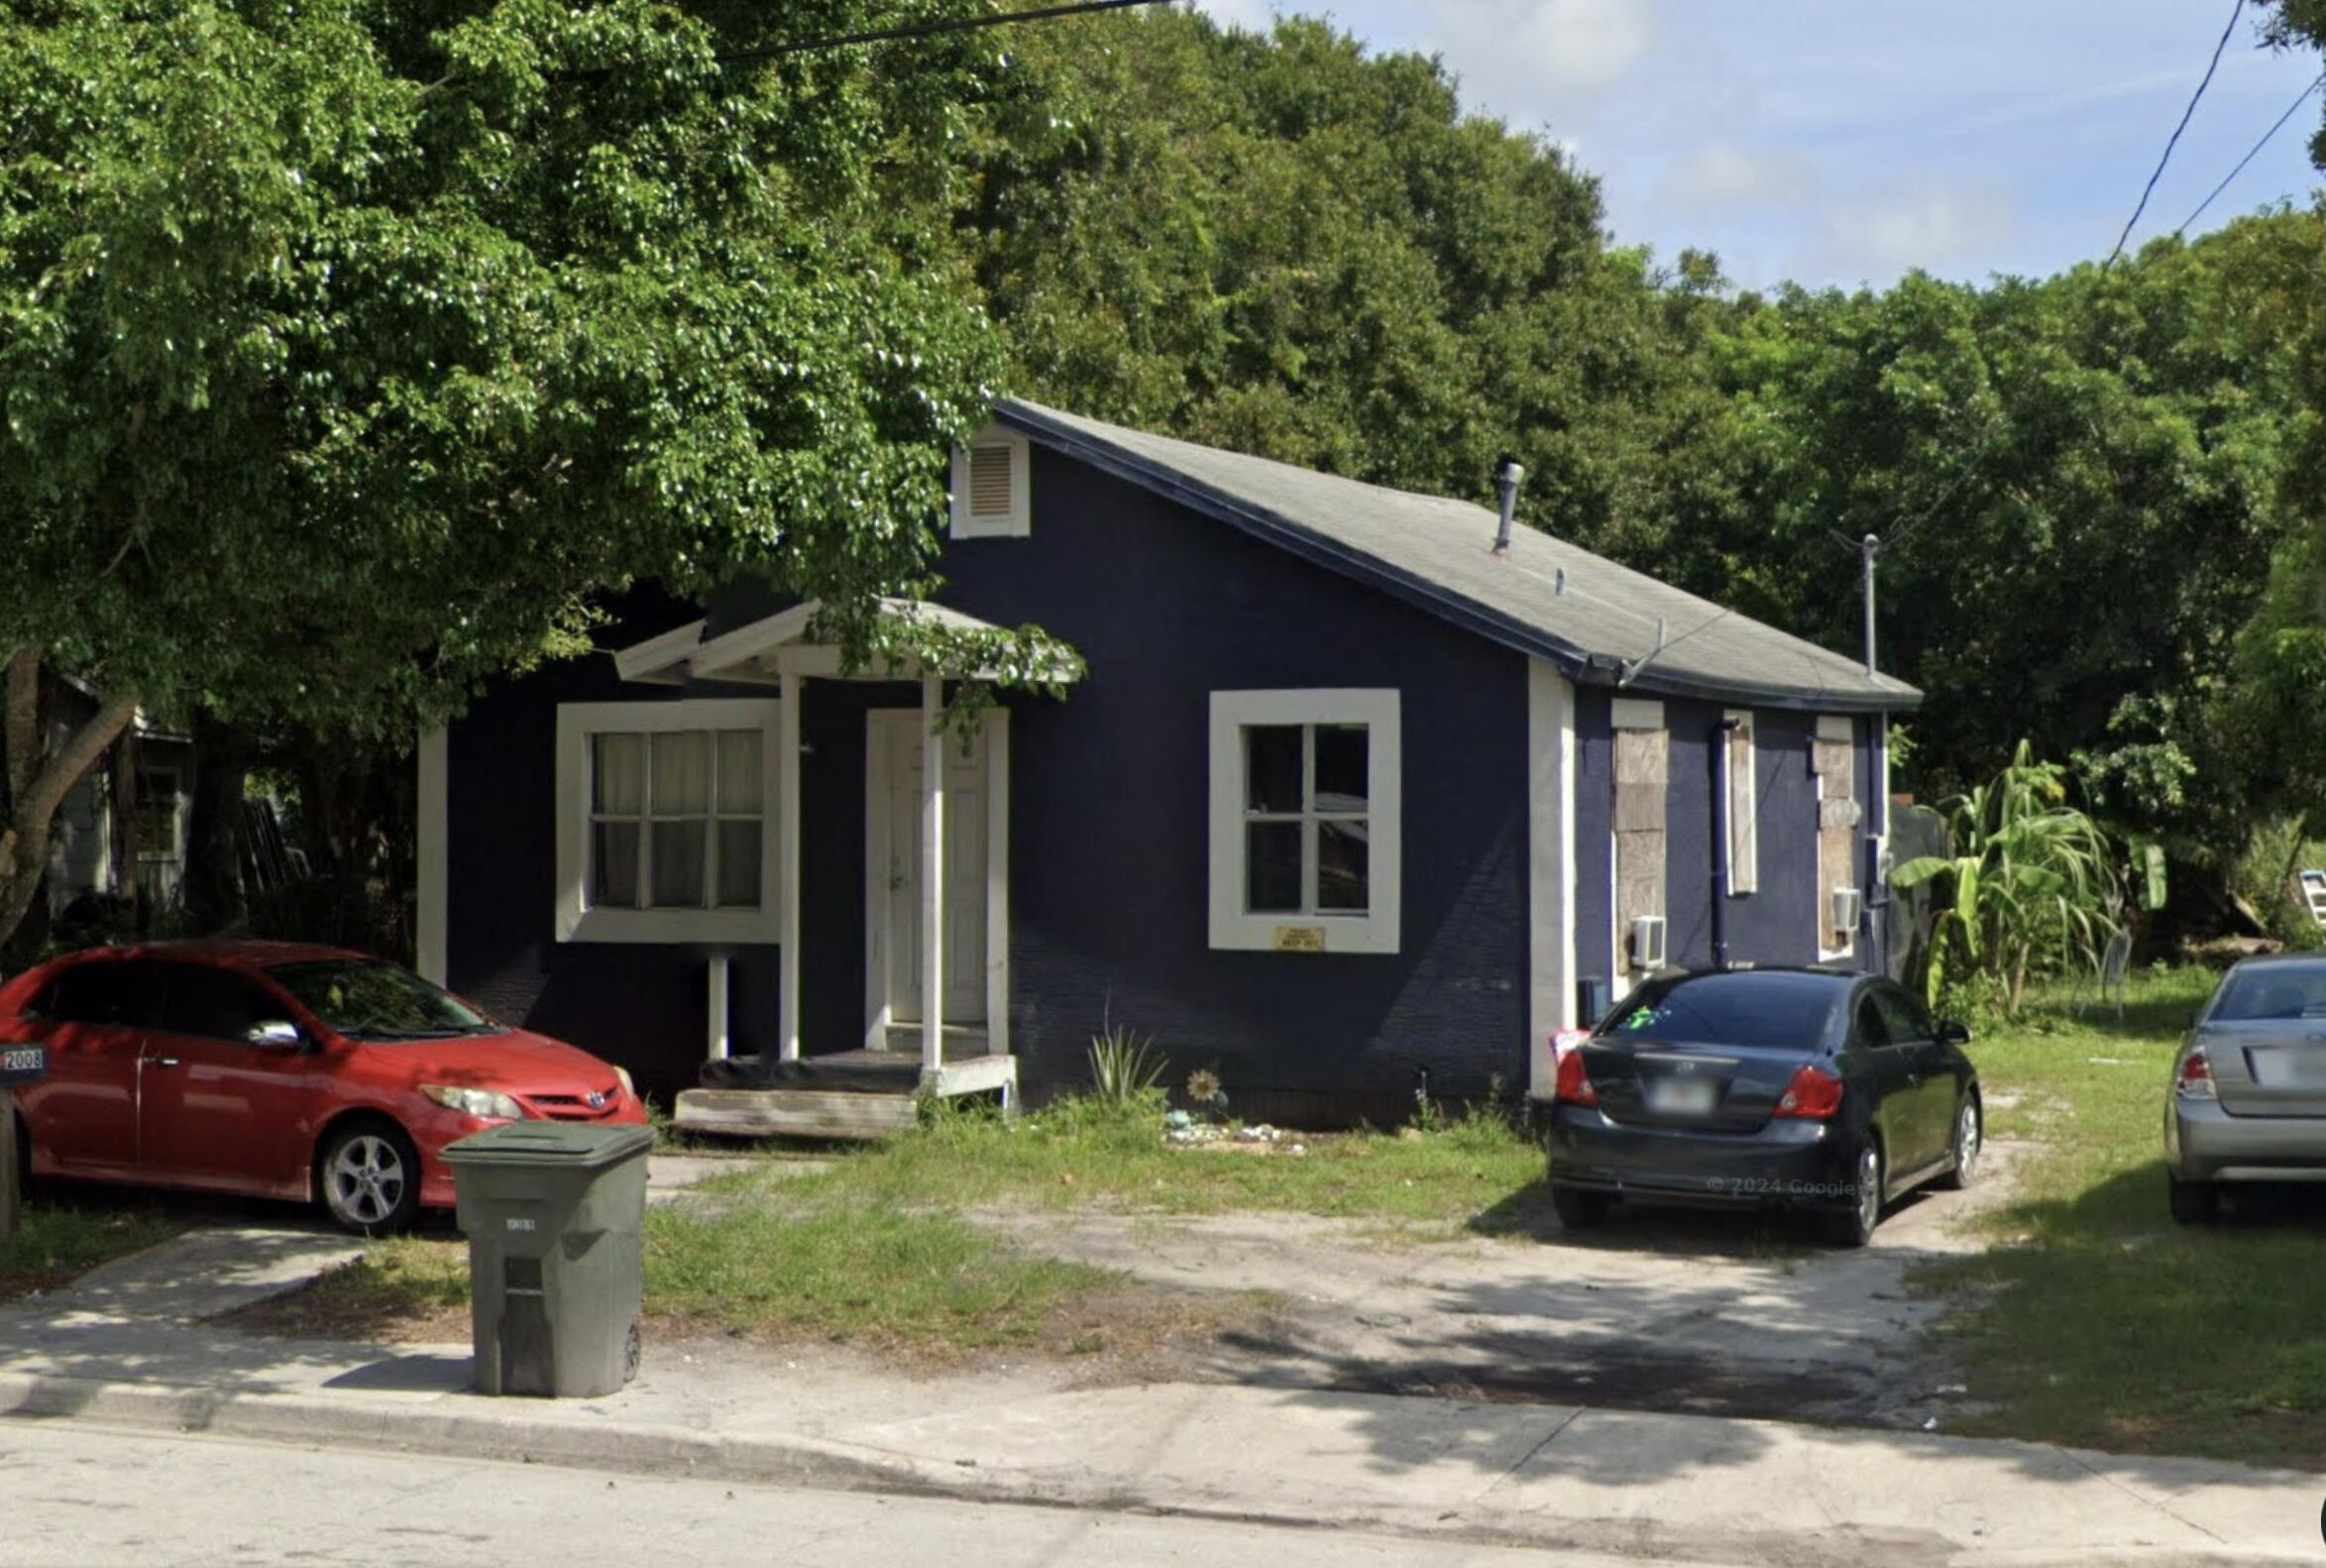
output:
[[0,1310],[0,1412],[1791,1568],[2321,1556],[2321,1477],[2205,1461],[1314,1389],[835,1375],[733,1342],[649,1345],[609,1398],[481,1398],[465,1345],[200,1321],[347,1252],[205,1231]]

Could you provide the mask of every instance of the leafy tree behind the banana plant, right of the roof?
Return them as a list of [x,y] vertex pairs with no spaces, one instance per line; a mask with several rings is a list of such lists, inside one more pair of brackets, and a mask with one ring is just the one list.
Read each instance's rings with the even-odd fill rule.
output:
[[2026,735],[2110,819],[2235,847],[2249,779],[2214,707],[2307,423],[2254,256],[2300,223],[2042,281],[1789,288],[1714,323],[1724,398],[1633,561],[1856,649],[1872,533],[1882,663],[1931,698],[1928,784],[1989,777]]

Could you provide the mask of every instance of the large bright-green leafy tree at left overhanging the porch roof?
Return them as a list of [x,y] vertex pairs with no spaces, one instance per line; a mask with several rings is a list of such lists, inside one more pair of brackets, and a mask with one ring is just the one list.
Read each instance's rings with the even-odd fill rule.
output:
[[[756,572],[858,644],[926,582],[1000,368],[926,216],[991,72],[719,58],[875,21],[0,9],[0,938],[137,705],[409,733],[635,577]],[[42,670],[102,693],[63,740]]]

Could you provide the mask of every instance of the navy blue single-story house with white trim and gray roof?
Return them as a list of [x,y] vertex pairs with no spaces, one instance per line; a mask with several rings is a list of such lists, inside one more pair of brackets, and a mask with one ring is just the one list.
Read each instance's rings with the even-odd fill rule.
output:
[[633,603],[423,742],[423,968],[665,1096],[889,1045],[1042,1093],[1112,1021],[1317,1124],[1547,1093],[1658,963],[1882,965],[1914,689],[1468,503],[1026,402],[954,472],[933,614],[1065,637],[1070,696],[963,749],[814,605]]

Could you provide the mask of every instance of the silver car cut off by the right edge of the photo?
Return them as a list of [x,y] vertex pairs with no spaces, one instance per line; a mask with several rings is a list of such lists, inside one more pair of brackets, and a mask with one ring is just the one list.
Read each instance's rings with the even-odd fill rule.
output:
[[2214,1217],[2224,1182],[2326,1177],[2326,956],[2233,965],[2172,1059],[2172,1219]]

